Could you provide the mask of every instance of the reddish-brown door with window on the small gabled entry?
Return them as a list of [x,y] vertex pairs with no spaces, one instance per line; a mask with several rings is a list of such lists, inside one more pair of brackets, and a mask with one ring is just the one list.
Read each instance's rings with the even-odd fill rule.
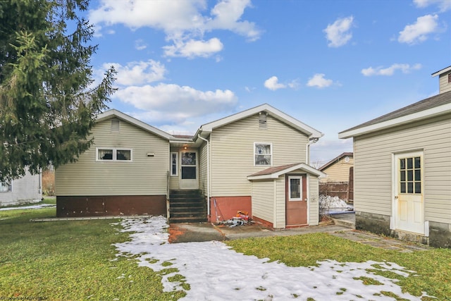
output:
[[307,225],[307,175],[285,176],[285,226]]

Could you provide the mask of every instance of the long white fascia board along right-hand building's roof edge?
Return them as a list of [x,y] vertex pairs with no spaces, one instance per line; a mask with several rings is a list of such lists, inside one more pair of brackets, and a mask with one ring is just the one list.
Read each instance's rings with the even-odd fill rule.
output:
[[365,126],[364,128],[356,128],[355,130],[348,130],[342,133],[338,133],[338,137],[340,139],[347,139],[350,137],[376,132],[377,130],[385,130],[386,128],[393,128],[397,125],[402,125],[404,123],[411,123],[414,121],[420,121],[422,119],[443,115],[445,113],[451,113],[451,104],[443,104],[442,106],[435,106],[434,108],[431,109],[390,119],[389,121],[383,121],[381,123],[368,125]]

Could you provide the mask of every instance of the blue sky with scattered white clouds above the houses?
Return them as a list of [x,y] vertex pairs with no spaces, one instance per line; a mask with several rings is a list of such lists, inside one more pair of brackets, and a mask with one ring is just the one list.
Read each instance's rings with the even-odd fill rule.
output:
[[[268,103],[324,133],[438,93],[451,65],[451,0],[98,0],[96,75],[118,70],[110,107],[171,134]],[[290,139],[290,137],[287,137]]]

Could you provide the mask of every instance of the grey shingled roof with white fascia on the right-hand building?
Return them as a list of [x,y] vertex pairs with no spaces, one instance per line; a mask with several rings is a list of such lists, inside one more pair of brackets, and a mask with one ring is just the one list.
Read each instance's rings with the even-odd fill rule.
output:
[[344,130],[338,133],[338,137],[355,137],[446,113],[451,113],[451,91],[423,99],[361,125],[354,126],[354,128]]

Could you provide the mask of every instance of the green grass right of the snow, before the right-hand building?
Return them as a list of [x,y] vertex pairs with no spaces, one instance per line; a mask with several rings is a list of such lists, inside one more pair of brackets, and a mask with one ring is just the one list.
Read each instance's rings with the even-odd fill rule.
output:
[[[401,253],[363,245],[328,233],[311,233],[270,238],[247,238],[226,242],[237,252],[280,261],[288,266],[316,266],[326,259],[338,262],[395,262],[416,271],[403,277],[390,271],[375,274],[399,279],[402,290],[420,296],[422,292],[438,300],[451,300],[451,250],[432,249]],[[427,300],[427,297],[423,297]]]

